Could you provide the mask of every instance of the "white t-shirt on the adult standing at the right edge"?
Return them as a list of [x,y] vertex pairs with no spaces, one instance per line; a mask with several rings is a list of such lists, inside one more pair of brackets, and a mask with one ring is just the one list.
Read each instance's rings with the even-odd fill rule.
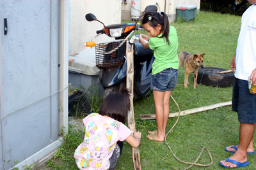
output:
[[236,78],[248,80],[256,68],[256,5],[253,4],[242,16],[241,31],[236,48]]

